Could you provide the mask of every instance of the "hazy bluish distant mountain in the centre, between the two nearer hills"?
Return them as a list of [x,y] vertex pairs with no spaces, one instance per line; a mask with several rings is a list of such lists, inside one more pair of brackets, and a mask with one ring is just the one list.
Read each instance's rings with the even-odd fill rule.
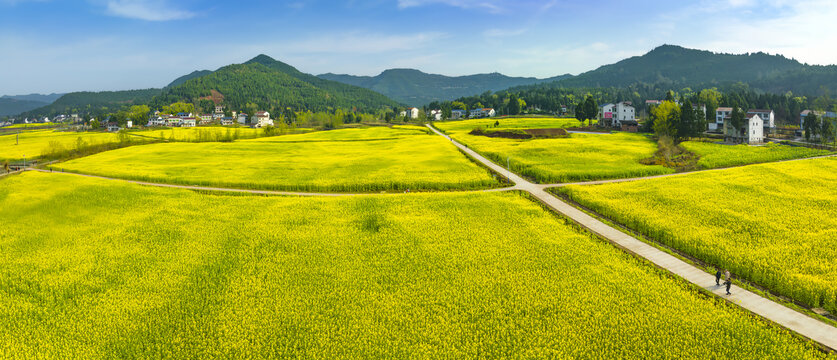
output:
[[371,89],[404,104],[421,106],[433,101],[453,100],[486,91],[561,80],[570,75],[550,79],[510,77],[498,73],[450,77],[427,74],[414,69],[390,69],[377,76],[327,73],[319,77]]

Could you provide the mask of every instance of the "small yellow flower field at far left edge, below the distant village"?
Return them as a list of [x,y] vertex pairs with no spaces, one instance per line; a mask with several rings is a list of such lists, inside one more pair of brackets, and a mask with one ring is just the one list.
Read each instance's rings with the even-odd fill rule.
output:
[[21,160],[24,156],[27,159],[40,157],[53,141],[63,147],[74,147],[79,143],[79,139],[88,146],[118,141],[113,133],[52,130],[26,131],[20,133],[19,140],[16,140],[16,137],[15,134],[0,136],[0,161]]

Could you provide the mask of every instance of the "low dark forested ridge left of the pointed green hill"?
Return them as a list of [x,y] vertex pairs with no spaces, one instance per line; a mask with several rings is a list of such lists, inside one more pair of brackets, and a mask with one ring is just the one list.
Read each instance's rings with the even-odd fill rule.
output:
[[58,114],[101,113],[118,110],[124,106],[146,104],[160,94],[160,89],[142,89],[125,91],[80,91],[67,93],[54,103],[21,114],[29,116],[54,116]]

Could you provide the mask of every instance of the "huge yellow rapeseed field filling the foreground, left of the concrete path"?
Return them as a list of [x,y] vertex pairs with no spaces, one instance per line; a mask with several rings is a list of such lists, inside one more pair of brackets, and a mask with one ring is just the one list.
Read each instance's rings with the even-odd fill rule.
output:
[[7,219],[4,358],[828,356],[513,193],[219,196],[30,172],[0,179]]

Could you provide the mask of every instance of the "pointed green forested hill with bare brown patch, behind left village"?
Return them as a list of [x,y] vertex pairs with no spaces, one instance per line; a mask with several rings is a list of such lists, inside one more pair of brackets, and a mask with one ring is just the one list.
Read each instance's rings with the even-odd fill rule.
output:
[[[399,104],[384,95],[357,86],[320,79],[296,68],[259,55],[244,64],[222,67],[209,74],[186,80],[155,97],[152,107],[178,101],[198,103],[214,95],[231,110],[243,110],[248,103],[275,112],[294,110],[357,109],[373,112]],[[218,96],[220,95],[220,97]]]

